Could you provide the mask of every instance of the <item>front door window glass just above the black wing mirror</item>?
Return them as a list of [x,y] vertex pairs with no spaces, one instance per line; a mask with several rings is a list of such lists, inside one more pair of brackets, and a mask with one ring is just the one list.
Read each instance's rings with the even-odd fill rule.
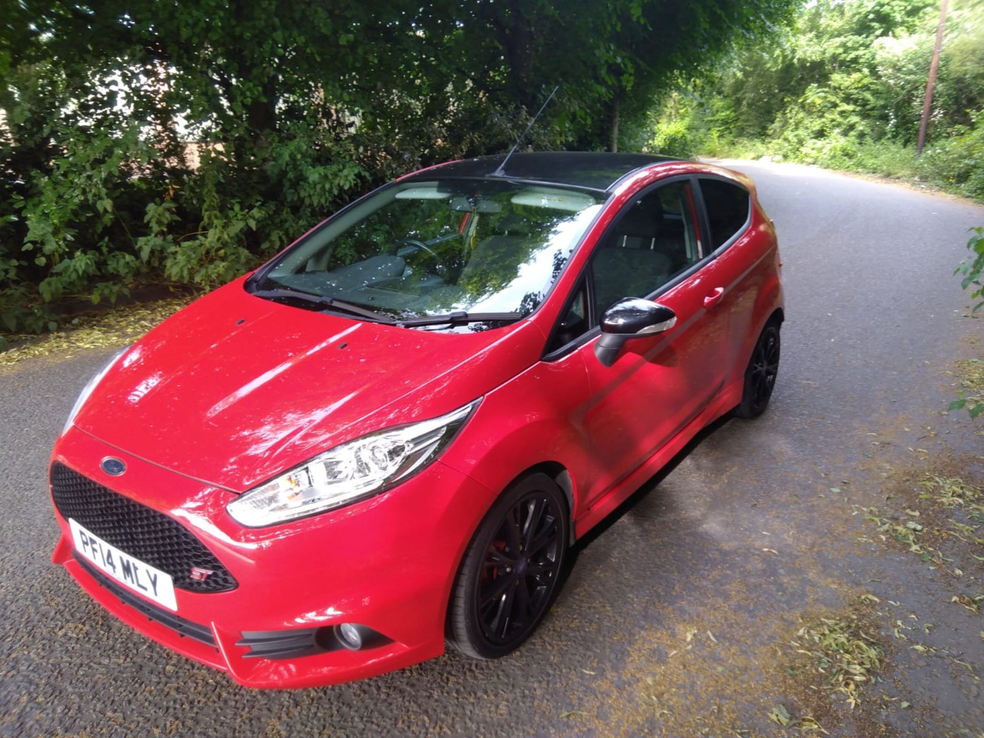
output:
[[594,253],[595,315],[623,297],[645,297],[701,259],[690,183],[650,190],[626,207]]

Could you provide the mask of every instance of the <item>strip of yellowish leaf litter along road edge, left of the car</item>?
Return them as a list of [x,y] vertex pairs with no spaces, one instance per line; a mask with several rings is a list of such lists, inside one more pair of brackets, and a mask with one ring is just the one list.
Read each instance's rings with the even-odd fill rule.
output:
[[105,312],[80,315],[63,330],[50,334],[11,335],[7,340],[13,345],[0,352],[0,367],[10,367],[26,359],[46,356],[67,359],[79,350],[126,345],[194,299],[195,296],[182,296],[121,305]]

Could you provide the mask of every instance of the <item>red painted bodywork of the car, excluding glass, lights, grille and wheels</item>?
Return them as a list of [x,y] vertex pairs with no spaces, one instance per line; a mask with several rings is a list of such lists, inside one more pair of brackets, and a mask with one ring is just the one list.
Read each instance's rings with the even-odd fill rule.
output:
[[[597,338],[544,360],[567,295],[612,218],[649,184],[702,173],[748,188],[752,220],[658,296],[677,326],[627,342],[609,367],[593,355]],[[584,535],[741,400],[753,345],[783,307],[774,230],[752,183],[692,162],[654,164],[621,181],[543,304],[505,328],[460,334],[370,324],[261,299],[243,281],[130,348],[52,452],[52,462],[181,523],[228,568],[235,589],[176,590],[178,614],[208,626],[216,646],[180,637],[103,588],[73,556],[60,515],[53,559],[158,643],[266,688],[358,679],[443,652],[461,558],[499,494],[523,472],[546,470]],[[238,493],[339,443],[476,398],[440,458],[383,494],[263,528],[244,527],[225,510]],[[107,455],[125,461],[125,475],[100,468]],[[343,622],[391,642],[289,660],[247,657],[236,645],[245,631]]]

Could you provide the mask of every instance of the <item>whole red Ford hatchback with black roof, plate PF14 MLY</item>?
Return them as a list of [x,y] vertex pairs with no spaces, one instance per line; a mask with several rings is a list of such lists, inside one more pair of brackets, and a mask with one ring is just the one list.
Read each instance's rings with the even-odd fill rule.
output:
[[54,561],[251,687],[491,658],[569,548],[761,413],[779,255],[743,175],[639,154],[431,167],[122,351],[51,458]]

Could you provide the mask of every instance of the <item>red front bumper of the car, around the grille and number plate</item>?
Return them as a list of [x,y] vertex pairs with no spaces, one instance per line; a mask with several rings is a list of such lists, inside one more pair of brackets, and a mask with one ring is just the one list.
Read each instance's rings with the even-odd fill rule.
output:
[[[126,473],[105,474],[99,461],[106,456],[125,461]],[[183,524],[238,586],[222,592],[178,588],[177,612],[163,611],[77,557],[68,522],[57,510],[62,534],[52,560],[134,629],[258,688],[351,681],[442,653],[458,563],[493,497],[436,461],[378,497],[251,529],[225,512],[233,493],[127,455],[77,428],[59,439],[54,461]],[[289,658],[258,657],[246,645],[259,632],[302,640],[341,623],[366,626],[385,639],[360,650],[316,648]]]

